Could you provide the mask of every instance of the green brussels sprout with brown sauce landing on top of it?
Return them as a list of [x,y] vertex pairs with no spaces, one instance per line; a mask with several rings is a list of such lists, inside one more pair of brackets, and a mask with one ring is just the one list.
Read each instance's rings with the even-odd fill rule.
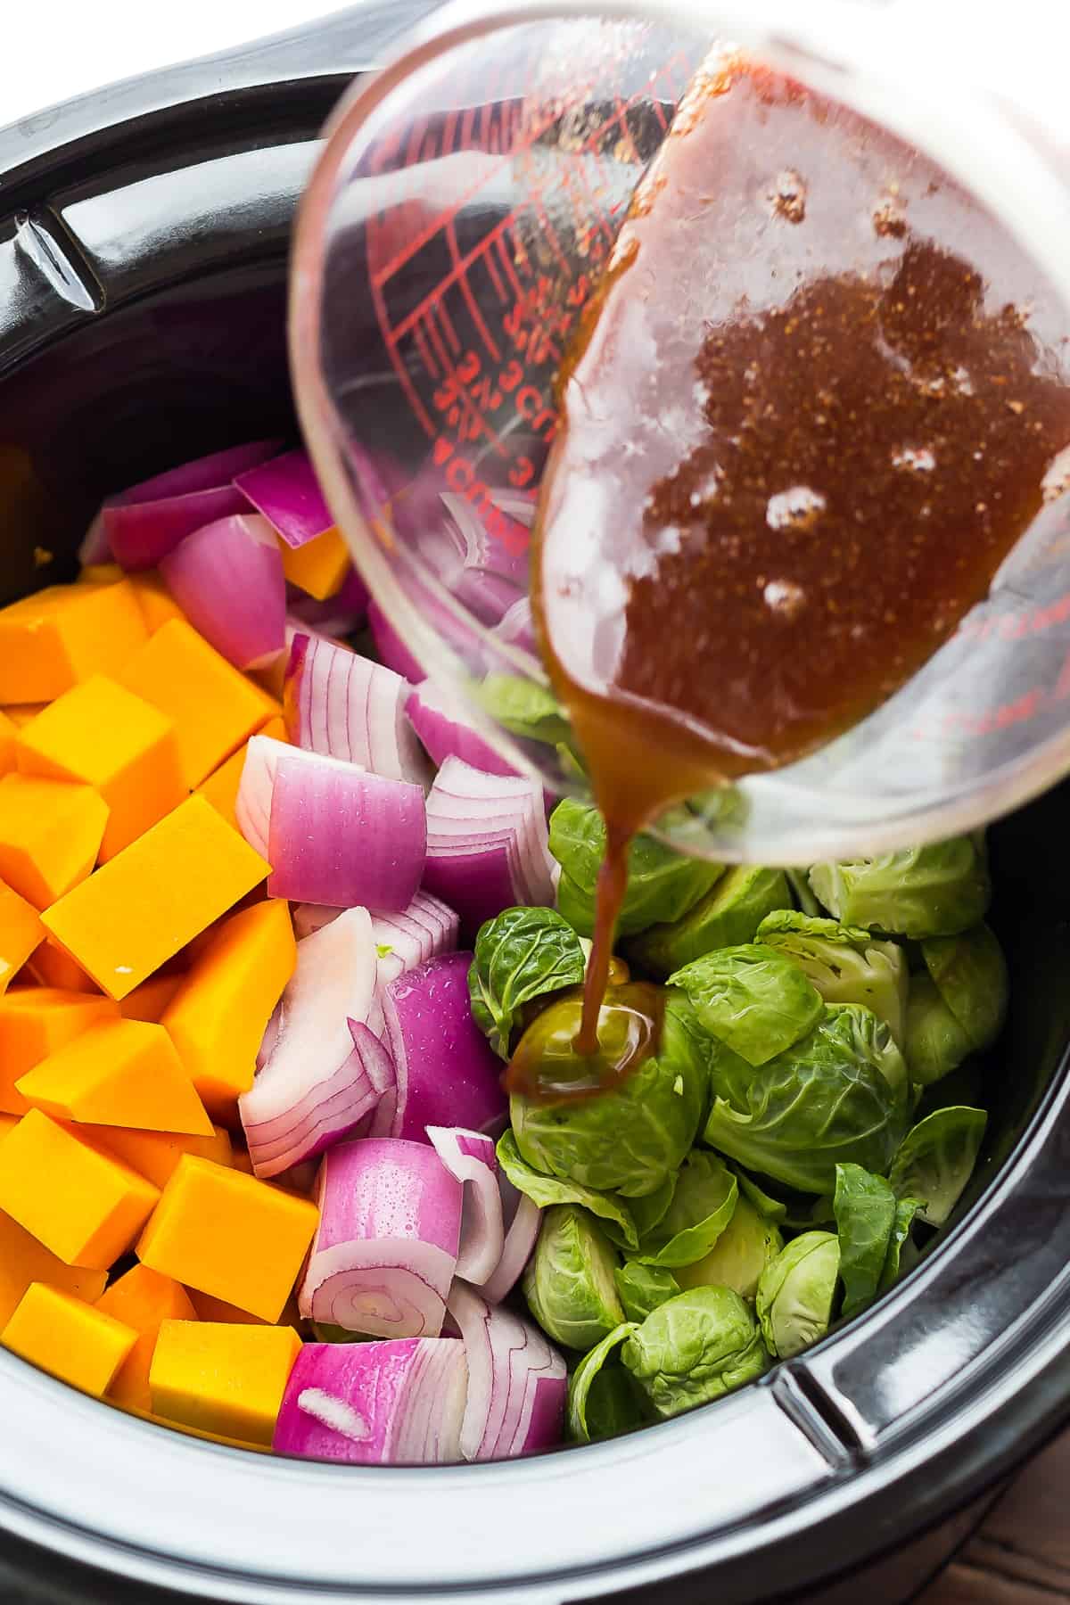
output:
[[688,1014],[683,998],[669,997],[658,1053],[598,1098],[534,1103],[513,1096],[510,1117],[523,1159],[602,1193],[656,1193],[683,1162],[706,1104],[706,1071]]

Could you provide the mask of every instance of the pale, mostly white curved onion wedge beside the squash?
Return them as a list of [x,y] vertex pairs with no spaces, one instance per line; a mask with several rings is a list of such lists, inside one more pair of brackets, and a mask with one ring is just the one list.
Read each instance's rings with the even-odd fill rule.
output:
[[367,908],[348,908],[298,945],[274,1042],[237,1101],[258,1176],[278,1176],[322,1152],[359,1127],[390,1090],[388,1054],[372,1069],[350,1029],[350,1019],[367,1018],[374,992]]

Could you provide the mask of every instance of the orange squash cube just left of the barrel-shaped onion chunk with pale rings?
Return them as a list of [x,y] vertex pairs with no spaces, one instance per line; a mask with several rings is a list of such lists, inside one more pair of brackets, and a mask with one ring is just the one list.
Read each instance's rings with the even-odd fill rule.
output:
[[[16,1135],[18,1128],[5,1141]],[[136,1252],[143,1265],[176,1282],[278,1321],[318,1218],[308,1199],[186,1154]]]

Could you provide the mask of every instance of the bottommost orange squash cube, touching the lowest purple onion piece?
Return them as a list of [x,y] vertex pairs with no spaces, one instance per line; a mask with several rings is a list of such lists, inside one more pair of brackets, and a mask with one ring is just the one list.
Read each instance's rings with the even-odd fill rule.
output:
[[160,1323],[152,1411],[201,1432],[268,1446],[302,1340],[289,1326]]

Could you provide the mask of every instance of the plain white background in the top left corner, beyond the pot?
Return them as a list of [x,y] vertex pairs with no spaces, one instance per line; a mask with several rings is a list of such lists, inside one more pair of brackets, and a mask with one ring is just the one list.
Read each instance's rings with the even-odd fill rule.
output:
[[0,127],[101,83],[342,10],[345,0],[0,0]]

